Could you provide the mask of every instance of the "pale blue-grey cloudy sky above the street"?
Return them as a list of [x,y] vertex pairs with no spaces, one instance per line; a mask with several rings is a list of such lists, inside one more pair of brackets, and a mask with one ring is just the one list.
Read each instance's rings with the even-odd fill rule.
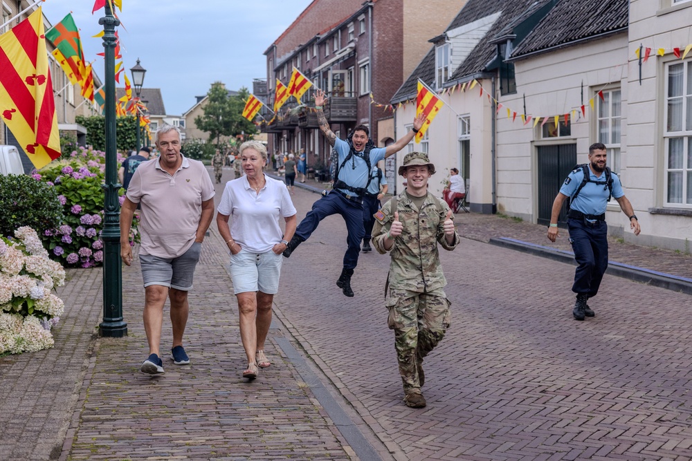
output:
[[[80,28],[84,59],[103,78],[103,8],[91,15],[94,0],[46,0],[44,15],[55,25],[69,12]],[[266,78],[262,54],[311,0],[122,0],[118,17],[123,66],[147,69],[145,88],[161,88],[166,113],[181,115],[205,95],[212,82],[226,88]],[[124,28],[123,28],[124,26]],[[46,26],[47,28],[47,26]],[[122,78],[120,84],[124,86]]]

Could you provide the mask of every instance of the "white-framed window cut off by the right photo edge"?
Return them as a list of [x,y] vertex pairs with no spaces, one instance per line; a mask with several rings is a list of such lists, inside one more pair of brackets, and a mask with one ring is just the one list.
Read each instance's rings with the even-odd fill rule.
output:
[[692,208],[692,62],[666,66],[666,205]]

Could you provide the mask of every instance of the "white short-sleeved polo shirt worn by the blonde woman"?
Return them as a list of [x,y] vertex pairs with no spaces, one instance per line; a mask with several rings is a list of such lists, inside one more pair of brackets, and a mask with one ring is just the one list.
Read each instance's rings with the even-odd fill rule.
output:
[[266,253],[282,241],[279,218],[295,215],[289,189],[282,181],[264,175],[260,194],[250,187],[247,176],[226,182],[217,211],[233,216],[230,236],[244,250]]

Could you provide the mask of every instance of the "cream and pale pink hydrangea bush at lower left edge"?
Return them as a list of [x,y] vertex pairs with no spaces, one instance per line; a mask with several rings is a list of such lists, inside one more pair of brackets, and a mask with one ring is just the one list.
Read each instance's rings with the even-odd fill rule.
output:
[[53,347],[64,303],[51,290],[64,283],[62,265],[48,258],[34,229],[0,236],[0,355]]

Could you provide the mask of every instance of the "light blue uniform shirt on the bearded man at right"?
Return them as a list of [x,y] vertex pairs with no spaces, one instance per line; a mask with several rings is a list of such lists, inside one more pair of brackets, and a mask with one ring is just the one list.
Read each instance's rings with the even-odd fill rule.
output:
[[[589,168],[590,178],[592,181],[603,181],[605,182],[605,171],[601,173],[601,176],[596,176],[591,168]],[[612,197],[620,198],[625,195],[622,190],[622,185],[620,184],[620,178],[617,174],[610,171],[610,176],[612,177]],[[584,179],[584,171],[579,168],[567,176],[565,182],[560,188],[560,192],[565,194],[567,197],[571,197],[576,192],[576,189],[581,185],[581,181]],[[579,195],[574,198],[574,201],[570,204],[570,209],[576,209],[576,211],[581,211],[583,214],[594,214],[599,215],[605,213],[605,207],[608,206],[608,186],[601,184],[597,185],[593,182],[587,182],[586,185],[579,191]]]

